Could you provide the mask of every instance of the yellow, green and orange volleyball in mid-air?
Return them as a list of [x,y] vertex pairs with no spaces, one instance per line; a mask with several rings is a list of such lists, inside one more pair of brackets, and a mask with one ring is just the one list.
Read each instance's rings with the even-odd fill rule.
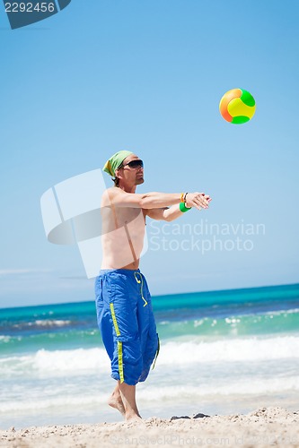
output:
[[228,90],[220,100],[219,110],[224,120],[233,125],[242,125],[254,116],[255,100],[247,90]]

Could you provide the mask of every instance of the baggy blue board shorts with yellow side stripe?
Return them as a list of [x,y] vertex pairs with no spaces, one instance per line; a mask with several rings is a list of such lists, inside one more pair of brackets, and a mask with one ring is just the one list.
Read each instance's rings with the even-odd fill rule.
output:
[[129,385],[145,381],[159,352],[145,276],[139,270],[101,270],[95,280],[95,296],[112,378]]

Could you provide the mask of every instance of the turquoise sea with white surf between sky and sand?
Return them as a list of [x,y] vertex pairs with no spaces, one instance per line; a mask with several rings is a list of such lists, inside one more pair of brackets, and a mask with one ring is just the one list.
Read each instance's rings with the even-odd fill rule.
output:
[[[153,297],[143,418],[299,410],[299,284]],[[94,302],[0,309],[0,429],[121,421]]]

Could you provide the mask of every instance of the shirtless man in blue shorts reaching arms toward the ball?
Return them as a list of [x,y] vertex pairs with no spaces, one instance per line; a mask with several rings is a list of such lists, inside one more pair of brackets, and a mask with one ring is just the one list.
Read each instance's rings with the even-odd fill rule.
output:
[[202,193],[136,194],[136,185],[144,183],[144,165],[130,151],[114,154],[103,170],[114,177],[114,186],[101,198],[102,263],[95,293],[111,376],[118,382],[109,404],[126,420],[140,419],[136,383],[145,381],[159,346],[151,296],[138,269],[145,218],[175,220],[191,207],[207,209],[211,199]]

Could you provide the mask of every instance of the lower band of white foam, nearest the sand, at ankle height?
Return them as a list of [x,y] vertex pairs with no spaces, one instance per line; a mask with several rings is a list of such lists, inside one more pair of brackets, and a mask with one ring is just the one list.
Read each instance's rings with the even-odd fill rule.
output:
[[[113,383],[110,383],[110,389]],[[55,391],[27,394],[24,391],[20,400],[12,400],[6,397],[2,399],[0,407],[0,415],[12,411],[39,411],[42,409],[84,409],[88,406],[97,406],[100,409],[101,405],[106,405],[110,389],[105,392],[91,392],[92,385],[85,385],[76,387],[75,391],[69,391],[63,387]],[[173,401],[176,404],[179,402],[200,402],[203,400],[219,401],[222,398],[229,398],[230,400],[238,397],[246,397],[250,399],[255,395],[270,395],[277,393],[294,395],[299,392],[299,378],[298,376],[290,376],[287,378],[243,378],[240,381],[232,382],[230,379],[226,381],[214,381],[211,378],[209,383],[198,383],[198,385],[169,385],[164,387],[154,387],[154,384],[140,384],[138,386],[138,401],[146,403],[155,403],[157,397],[159,401],[166,404],[167,401]]]

